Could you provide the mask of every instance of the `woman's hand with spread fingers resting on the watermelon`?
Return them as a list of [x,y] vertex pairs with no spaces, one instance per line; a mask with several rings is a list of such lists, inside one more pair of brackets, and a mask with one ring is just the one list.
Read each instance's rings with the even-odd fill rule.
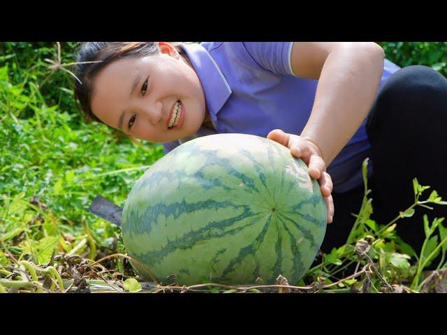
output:
[[321,188],[321,194],[326,203],[326,211],[328,213],[328,223],[332,223],[334,216],[334,200],[332,200],[332,179],[326,172],[326,164],[320,149],[312,140],[298,135],[284,133],[281,129],[270,131],[267,138],[274,140],[279,144],[291,150],[291,154],[297,158],[301,158],[309,167],[309,175],[318,181]]

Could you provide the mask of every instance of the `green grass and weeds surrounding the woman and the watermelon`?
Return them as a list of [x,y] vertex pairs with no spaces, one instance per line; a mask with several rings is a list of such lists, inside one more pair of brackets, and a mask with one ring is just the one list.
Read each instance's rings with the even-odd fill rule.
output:
[[[73,62],[77,46],[61,44],[61,64]],[[440,48],[444,51],[445,43]],[[444,274],[443,218],[420,223],[427,233],[420,255],[395,235],[395,224],[420,205],[445,203],[415,181],[415,202],[381,225],[369,217],[372,201],[365,179],[365,198],[348,243],[324,255],[299,283],[288,288],[142,283],[120,229],[90,214],[88,207],[99,194],[123,206],[133,183],[163,156],[161,145],[138,145],[103,124],[86,124],[73,103],[73,78],[63,70],[70,66],[50,68],[58,64],[57,53],[56,43],[0,43],[0,292],[420,292],[441,281],[435,276],[424,283],[423,269],[441,253],[438,268]],[[409,55],[395,57],[417,59]],[[346,274],[349,265],[356,265],[356,274]],[[286,278],[278,283],[287,284]]]

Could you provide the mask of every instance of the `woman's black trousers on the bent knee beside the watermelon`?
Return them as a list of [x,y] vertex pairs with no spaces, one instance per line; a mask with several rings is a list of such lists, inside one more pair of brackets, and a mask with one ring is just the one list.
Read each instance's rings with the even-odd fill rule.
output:
[[[447,199],[447,80],[427,66],[409,66],[388,77],[367,117],[372,144],[372,219],[386,224],[414,202],[412,180],[430,186],[420,198],[436,190]],[[329,253],[346,243],[362,204],[364,188],[332,193],[335,215],[321,247]],[[446,217],[447,206],[430,204],[433,210],[416,207],[411,218],[397,221],[397,234],[417,253],[425,239],[423,214]],[[444,222],[443,224],[446,224]],[[435,265],[436,267],[436,265]]]

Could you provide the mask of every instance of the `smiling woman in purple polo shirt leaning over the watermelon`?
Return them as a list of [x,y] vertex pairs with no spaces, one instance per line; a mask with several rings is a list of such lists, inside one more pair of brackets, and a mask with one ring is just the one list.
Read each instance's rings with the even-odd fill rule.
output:
[[[447,81],[425,66],[400,70],[376,43],[85,43],[77,60],[91,62],[78,67],[82,110],[162,142],[166,153],[213,133],[259,135],[291,149],[318,180],[335,222],[325,252],[346,241],[367,157],[379,223],[412,204],[413,177],[447,193],[438,177]],[[416,248],[421,215],[397,230]]]

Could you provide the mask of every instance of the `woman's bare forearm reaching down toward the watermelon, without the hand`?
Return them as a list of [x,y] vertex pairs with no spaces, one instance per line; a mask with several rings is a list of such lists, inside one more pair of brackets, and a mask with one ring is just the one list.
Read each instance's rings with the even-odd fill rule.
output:
[[383,72],[383,51],[344,46],[328,55],[318,80],[312,113],[300,134],[321,150],[328,166],[372,107]]

